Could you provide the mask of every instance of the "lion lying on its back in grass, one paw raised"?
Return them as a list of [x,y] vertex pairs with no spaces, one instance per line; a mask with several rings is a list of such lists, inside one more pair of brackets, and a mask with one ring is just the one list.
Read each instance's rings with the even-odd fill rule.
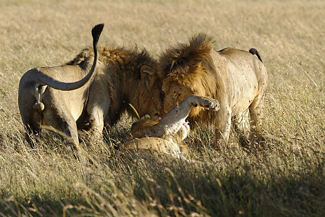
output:
[[137,150],[138,152],[157,152],[158,155],[167,155],[178,159],[185,159],[180,150],[180,143],[189,133],[189,124],[186,121],[189,112],[194,107],[203,110],[218,111],[219,102],[205,96],[189,95],[171,109],[160,121],[144,116],[133,123],[131,128],[132,139],[122,148]]

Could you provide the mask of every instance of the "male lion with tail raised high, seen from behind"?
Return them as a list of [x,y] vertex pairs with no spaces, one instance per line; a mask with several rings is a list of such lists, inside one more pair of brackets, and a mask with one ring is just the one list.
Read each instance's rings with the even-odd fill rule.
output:
[[[93,31],[97,38],[99,28]],[[145,50],[97,47],[97,38],[93,49],[84,49],[71,62],[31,69],[21,77],[18,103],[29,143],[28,135],[39,137],[42,125],[63,132],[68,146],[79,144],[78,129],[100,139],[104,124],[113,125],[124,111],[136,116],[132,107],[139,116],[158,118],[162,103],[157,60]]]

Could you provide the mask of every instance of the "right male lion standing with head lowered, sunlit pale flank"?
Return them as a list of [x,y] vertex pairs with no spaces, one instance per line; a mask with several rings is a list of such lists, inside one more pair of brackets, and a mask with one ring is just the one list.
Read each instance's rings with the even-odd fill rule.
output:
[[165,112],[190,94],[219,101],[221,108],[216,113],[197,107],[189,114],[191,121],[211,121],[216,126],[216,144],[228,141],[232,117],[246,138],[250,128],[256,130],[259,126],[268,75],[256,49],[214,51],[210,37],[199,34],[189,44],[165,51],[160,56],[159,70]]

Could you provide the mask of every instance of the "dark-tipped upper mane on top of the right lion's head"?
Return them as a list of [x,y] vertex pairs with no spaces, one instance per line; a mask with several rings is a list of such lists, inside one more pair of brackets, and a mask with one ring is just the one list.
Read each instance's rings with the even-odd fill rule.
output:
[[179,78],[194,73],[198,64],[210,65],[210,52],[213,49],[212,37],[203,33],[194,35],[189,44],[178,44],[160,55],[160,73],[164,78]]

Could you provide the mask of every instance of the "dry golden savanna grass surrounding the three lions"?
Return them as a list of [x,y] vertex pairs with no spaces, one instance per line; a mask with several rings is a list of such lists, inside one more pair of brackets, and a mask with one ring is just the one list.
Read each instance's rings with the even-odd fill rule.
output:
[[[0,216],[325,216],[325,1],[0,1]],[[22,74],[64,64],[99,44],[145,48],[155,58],[196,33],[216,50],[256,48],[268,69],[261,138],[212,150],[213,130],[186,140],[200,163],[122,162],[104,143],[74,157],[42,132],[30,148],[17,105]],[[195,124],[195,123],[192,123]],[[82,134],[82,133],[81,133]]]

